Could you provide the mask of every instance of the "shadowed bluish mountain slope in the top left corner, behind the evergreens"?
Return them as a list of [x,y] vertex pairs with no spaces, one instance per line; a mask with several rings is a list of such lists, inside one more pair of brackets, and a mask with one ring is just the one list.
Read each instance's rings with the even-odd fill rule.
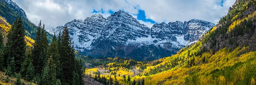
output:
[[[12,24],[17,18],[22,17],[26,36],[35,39],[37,26],[27,19],[25,11],[17,6],[17,4],[12,0],[0,0],[0,15],[10,24]],[[48,38],[51,37],[52,35],[48,33]]]

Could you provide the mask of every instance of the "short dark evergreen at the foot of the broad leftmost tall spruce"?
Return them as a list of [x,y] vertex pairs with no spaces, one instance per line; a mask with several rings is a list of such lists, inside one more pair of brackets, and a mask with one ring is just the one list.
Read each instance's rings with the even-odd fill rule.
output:
[[13,77],[14,74],[15,74],[15,61],[14,61],[14,57],[12,57],[6,69],[6,76]]

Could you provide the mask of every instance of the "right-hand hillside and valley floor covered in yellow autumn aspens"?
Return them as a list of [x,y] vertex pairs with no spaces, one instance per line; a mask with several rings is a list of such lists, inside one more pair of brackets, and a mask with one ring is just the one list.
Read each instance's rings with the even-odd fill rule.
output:
[[[85,70],[102,82],[145,85],[254,85],[256,79],[256,0],[236,0],[201,40],[172,57],[131,60]],[[127,68],[128,66],[128,68]],[[105,80],[107,79],[107,80]]]

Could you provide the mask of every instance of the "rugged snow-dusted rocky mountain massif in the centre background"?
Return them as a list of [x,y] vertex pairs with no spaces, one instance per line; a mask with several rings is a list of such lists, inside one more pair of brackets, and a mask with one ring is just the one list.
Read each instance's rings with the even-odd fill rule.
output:
[[[152,60],[175,54],[200,39],[214,24],[193,19],[184,23],[159,23],[148,28],[130,14],[118,11],[107,18],[94,14],[64,26],[69,27],[70,38],[83,55]],[[48,32],[58,35],[64,26]]]

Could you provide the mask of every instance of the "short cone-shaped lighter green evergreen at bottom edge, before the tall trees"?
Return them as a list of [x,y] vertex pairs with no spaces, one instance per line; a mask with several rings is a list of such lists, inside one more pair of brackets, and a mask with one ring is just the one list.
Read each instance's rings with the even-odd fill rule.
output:
[[55,85],[57,82],[56,79],[56,66],[53,63],[52,57],[49,57],[46,63],[46,66],[44,66],[44,70],[42,72],[42,79],[40,82],[40,85]]

